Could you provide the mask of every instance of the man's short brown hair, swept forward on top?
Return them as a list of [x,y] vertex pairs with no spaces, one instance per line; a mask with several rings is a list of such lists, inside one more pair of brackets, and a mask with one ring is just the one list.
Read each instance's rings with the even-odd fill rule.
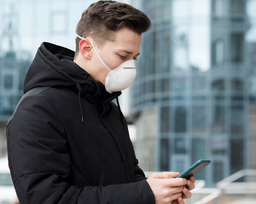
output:
[[[100,0],[83,11],[76,25],[76,33],[81,37],[91,36],[101,47],[106,41],[115,41],[115,32],[127,28],[139,35],[148,31],[151,22],[148,16],[126,3],[112,0]],[[79,42],[76,37],[76,52],[79,53]]]

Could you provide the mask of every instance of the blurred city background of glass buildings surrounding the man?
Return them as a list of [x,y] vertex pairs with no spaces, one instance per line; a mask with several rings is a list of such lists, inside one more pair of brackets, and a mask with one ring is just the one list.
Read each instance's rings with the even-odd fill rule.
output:
[[[0,157],[37,48],[74,50],[76,24],[92,2],[0,0]],[[120,99],[139,166],[181,172],[210,159],[186,203],[255,202],[256,0],[120,2],[152,21],[135,82]]]

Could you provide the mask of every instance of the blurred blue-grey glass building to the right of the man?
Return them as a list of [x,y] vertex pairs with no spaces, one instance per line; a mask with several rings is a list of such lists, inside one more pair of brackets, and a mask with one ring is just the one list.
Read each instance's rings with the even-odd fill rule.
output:
[[131,110],[148,171],[199,159],[208,186],[256,169],[256,0],[141,0],[143,34]]

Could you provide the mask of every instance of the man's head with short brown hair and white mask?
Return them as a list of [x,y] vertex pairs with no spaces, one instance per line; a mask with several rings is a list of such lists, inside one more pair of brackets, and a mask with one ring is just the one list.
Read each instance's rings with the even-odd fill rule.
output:
[[[134,70],[131,69],[135,66],[130,66],[129,63],[132,59],[137,59],[141,33],[150,26],[146,14],[128,4],[115,1],[91,4],[83,12],[76,27],[79,37],[76,37],[74,62],[88,72],[92,80],[103,83],[106,90],[111,86],[108,92],[124,90],[136,76],[136,70],[134,75]],[[112,72],[125,62],[129,66],[121,68],[124,73],[117,74],[117,70],[115,74]],[[115,77],[112,79],[113,74]],[[118,83],[117,78],[121,80]],[[115,84],[119,84],[119,88]]]

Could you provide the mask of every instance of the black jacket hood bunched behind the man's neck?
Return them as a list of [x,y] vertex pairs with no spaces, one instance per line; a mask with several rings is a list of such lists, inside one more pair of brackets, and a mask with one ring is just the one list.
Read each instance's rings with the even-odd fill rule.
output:
[[102,83],[92,81],[92,77],[73,60],[74,51],[43,42],[25,77],[24,94],[36,87],[69,87],[82,97],[98,102],[106,96],[111,100],[121,94],[109,94]]

